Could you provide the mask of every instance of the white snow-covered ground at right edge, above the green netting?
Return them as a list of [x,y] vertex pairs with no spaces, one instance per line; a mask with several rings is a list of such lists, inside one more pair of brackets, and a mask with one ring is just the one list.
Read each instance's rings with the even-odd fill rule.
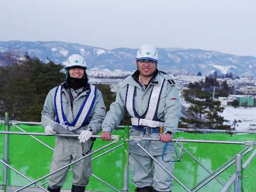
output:
[[[228,120],[229,125],[234,126],[234,120],[237,121],[235,130],[249,131],[250,125],[256,125],[256,107],[231,107],[225,106],[225,110],[221,113],[224,119]],[[252,131],[252,130],[250,130]]]

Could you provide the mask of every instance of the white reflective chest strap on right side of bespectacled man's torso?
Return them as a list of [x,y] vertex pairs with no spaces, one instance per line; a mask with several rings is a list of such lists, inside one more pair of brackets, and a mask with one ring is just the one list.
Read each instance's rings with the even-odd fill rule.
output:
[[164,79],[161,78],[159,84],[154,85],[153,87],[150,101],[149,101],[149,109],[147,110],[145,119],[153,119],[156,110],[158,110],[157,103],[158,103],[159,95],[161,94],[161,87],[162,87],[163,80]]

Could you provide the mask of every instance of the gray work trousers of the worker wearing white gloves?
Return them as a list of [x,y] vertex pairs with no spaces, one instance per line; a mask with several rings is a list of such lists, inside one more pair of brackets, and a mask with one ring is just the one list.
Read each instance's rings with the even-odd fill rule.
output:
[[[90,149],[91,139],[85,142],[84,151]],[[82,146],[77,138],[57,137],[55,140],[55,149],[53,159],[51,161],[51,172],[69,164],[71,161],[76,161],[82,156]],[[56,189],[62,187],[69,167],[51,175],[49,177],[49,187]],[[73,185],[86,186],[89,183],[91,175],[91,156],[82,159],[73,164]]]

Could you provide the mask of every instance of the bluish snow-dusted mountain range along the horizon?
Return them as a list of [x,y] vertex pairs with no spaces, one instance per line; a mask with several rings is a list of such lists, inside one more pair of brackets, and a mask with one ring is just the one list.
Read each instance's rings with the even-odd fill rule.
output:
[[[0,42],[0,56],[8,52],[17,55],[29,54],[42,61],[50,58],[55,63],[64,63],[71,54],[81,54],[85,57],[89,69],[109,69],[133,71],[137,49],[118,48],[113,50],[85,46],[67,42]],[[234,73],[241,76],[256,76],[256,58],[205,51],[199,49],[158,48],[161,70],[168,73],[198,73],[209,74],[215,70],[219,74]],[[5,62],[1,61],[0,65]]]

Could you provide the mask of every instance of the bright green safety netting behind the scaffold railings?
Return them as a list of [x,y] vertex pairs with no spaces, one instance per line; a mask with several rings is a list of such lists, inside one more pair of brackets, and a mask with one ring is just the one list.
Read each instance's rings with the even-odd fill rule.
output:
[[[28,126],[18,125],[27,132],[43,132],[41,126]],[[0,130],[4,131],[5,127],[2,124]],[[10,126],[10,131],[21,131],[17,127]],[[123,137],[124,130],[114,131],[113,134]],[[4,134],[0,134],[0,158],[4,157]],[[54,148],[55,137],[46,136],[34,136],[41,141],[47,143],[47,145]],[[175,138],[182,137],[184,139],[202,139],[202,140],[218,140],[218,141],[256,141],[256,134],[224,134],[224,133],[177,133]],[[113,146],[121,144],[120,140]],[[109,142],[97,139],[94,142],[93,150],[99,147],[107,145]],[[107,147],[105,150],[98,152],[93,157],[103,153],[103,151],[111,149]],[[183,143],[183,147],[188,150],[195,158],[197,158],[204,166],[210,171],[217,170],[230,158],[234,157],[239,151],[245,149],[244,145],[228,145],[228,144],[215,144],[215,143]],[[179,151],[179,147],[177,150]],[[255,147],[254,147],[255,149]],[[123,187],[123,153],[124,147],[121,146],[118,149],[111,151],[108,154],[102,155],[92,162],[93,174],[103,179],[110,185],[122,191]],[[251,152],[243,157],[243,162],[250,156]],[[49,174],[51,158],[53,151],[42,145],[29,135],[9,135],[9,164],[15,169],[25,174],[27,177],[35,180],[41,178],[43,175]],[[226,183],[230,177],[234,174],[234,165],[225,170],[218,178]],[[243,171],[243,189],[245,191],[255,191],[256,182],[256,158]],[[181,162],[175,162],[174,175],[189,189],[192,189],[203,178],[207,177],[209,173],[203,169],[197,162],[194,161],[189,155],[183,151],[183,158]],[[39,183],[46,182],[44,179]],[[21,177],[14,171],[8,171],[8,185],[10,186],[25,186],[30,182]],[[0,185],[3,183],[3,165],[0,165]],[[69,173],[63,186],[63,189],[70,189],[72,183],[72,173]],[[44,187],[46,187],[45,185]],[[134,191],[135,186],[131,179],[131,170],[129,170],[129,191]],[[213,179],[206,186],[202,187],[199,191],[221,191],[223,186],[218,181]],[[89,191],[114,191],[109,186],[100,182],[93,176],[90,177],[90,183],[86,186],[86,190]],[[233,185],[230,188],[233,191]],[[173,191],[185,191],[177,182],[174,182]]]

